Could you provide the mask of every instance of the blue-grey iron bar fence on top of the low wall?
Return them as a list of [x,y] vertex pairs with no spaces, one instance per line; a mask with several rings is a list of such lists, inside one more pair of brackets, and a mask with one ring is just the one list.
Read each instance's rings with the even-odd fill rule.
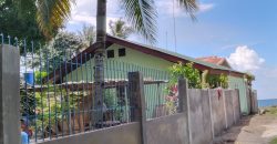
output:
[[[127,73],[144,79],[146,117],[176,113],[177,91],[168,86],[168,73],[114,59],[104,61],[104,94],[95,109],[94,55],[64,50],[54,53],[45,45],[0,35],[1,44],[20,50],[21,117],[31,142],[43,142],[134,121],[135,105]],[[173,91],[174,90],[174,91]],[[95,113],[101,111],[101,115]]]

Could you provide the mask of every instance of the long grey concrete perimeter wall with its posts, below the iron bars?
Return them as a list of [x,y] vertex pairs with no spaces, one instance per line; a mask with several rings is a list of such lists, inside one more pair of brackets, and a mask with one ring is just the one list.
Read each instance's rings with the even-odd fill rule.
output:
[[[147,120],[142,76],[134,89],[137,114],[134,123],[96,130],[79,135],[43,142],[43,144],[207,144],[239,120],[237,90],[187,89],[178,82],[178,113]],[[132,79],[131,82],[135,82]]]

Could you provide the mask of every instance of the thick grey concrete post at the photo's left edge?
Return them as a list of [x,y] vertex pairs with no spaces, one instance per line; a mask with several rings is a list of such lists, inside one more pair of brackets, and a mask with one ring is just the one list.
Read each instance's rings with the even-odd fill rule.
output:
[[0,47],[0,144],[20,144],[19,50]]

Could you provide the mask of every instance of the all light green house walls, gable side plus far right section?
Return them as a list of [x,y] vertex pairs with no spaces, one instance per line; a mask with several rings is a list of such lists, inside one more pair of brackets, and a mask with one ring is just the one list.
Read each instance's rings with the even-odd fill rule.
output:
[[[104,69],[105,79],[107,80],[126,80],[127,72],[132,71],[141,71],[144,75],[144,79],[150,79],[155,75],[156,80],[167,80],[166,71],[173,64],[173,62],[168,62],[164,59],[156,58],[150,54],[142,53],[136,50],[125,48],[126,55],[119,56],[119,49],[121,45],[113,44],[107,50],[114,50],[114,56],[112,59],[106,59]],[[91,82],[93,81],[93,59],[83,64],[83,66],[78,68],[73,72],[69,73],[68,76],[64,76],[66,81],[81,81]],[[163,74],[161,74],[163,73]],[[163,91],[162,93],[157,93],[161,89],[165,89],[166,84],[160,85],[147,85],[145,86],[146,96],[146,105],[147,105],[147,117],[151,119],[153,115],[154,106],[157,101],[153,101],[157,97],[165,97],[166,93]],[[240,109],[245,114],[249,113],[249,101],[247,101],[246,85],[243,78],[229,76],[229,86],[230,89],[239,90],[239,100],[240,100]],[[160,89],[160,90],[158,90]],[[153,102],[153,103],[148,103]]]

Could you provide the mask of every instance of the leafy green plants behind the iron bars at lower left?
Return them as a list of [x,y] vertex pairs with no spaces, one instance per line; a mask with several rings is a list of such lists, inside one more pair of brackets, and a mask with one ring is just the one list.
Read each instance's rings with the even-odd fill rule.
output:
[[[42,88],[45,86],[42,85]],[[42,135],[49,128],[59,127],[62,121],[69,120],[73,111],[76,111],[79,102],[86,95],[53,86],[41,92],[22,89],[20,91],[21,114],[31,122],[30,128],[33,131],[37,128],[40,133],[38,135]]]

